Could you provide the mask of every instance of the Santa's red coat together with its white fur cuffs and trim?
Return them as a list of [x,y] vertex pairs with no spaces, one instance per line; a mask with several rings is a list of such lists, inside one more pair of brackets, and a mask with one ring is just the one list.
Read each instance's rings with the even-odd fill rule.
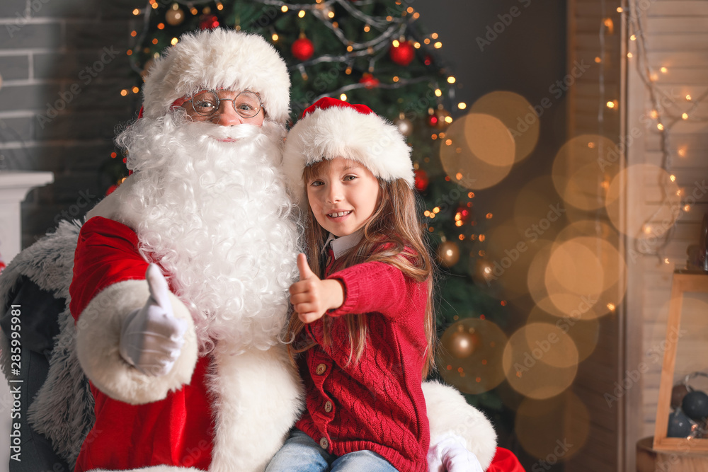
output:
[[[76,320],[77,355],[96,398],[96,423],[82,446],[76,471],[154,465],[263,470],[298,414],[297,379],[285,368],[287,355],[273,347],[236,357],[198,358],[195,341],[187,338],[173,370],[164,378],[146,379],[120,357],[117,347],[122,318],[149,296],[144,281],[147,262],[137,246],[135,231],[103,217],[87,221],[79,237],[70,307]],[[173,294],[170,297],[175,316],[193,329],[183,303]],[[207,367],[215,376],[206,375]],[[243,392],[229,398],[240,387],[233,379],[241,377],[251,398]],[[221,384],[210,388],[210,382]],[[465,424],[473,426],[463,433],[468,444],[490,461],[495,435],[489,421],[449,387],[428,382],[423,389],[435,429],[453,430],[459,418],[466,418]],[[217,410],[214,391],[221,394]],[[241,405],[247,415],[239,410]],[[242,427],[235,426],[241,423]]]

